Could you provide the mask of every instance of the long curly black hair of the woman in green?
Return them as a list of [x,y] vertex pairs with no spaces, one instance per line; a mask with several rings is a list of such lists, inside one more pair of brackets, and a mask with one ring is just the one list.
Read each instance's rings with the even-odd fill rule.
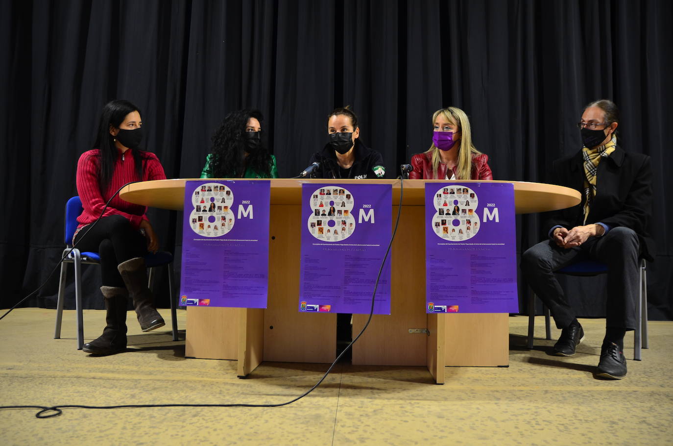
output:
[[250,118],[260,123],[264,120],[259,110],[238,110],[226,115],[215,130],[210,162],[213,178],[243,177],[248,167],[260,176],[271,177],[271,155],[263,139],[259,150],[246,157],[244,133]]

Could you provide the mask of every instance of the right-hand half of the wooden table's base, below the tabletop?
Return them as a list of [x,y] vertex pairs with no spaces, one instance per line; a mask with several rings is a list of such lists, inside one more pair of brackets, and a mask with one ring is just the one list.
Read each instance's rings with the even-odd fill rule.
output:
[[[394,206],[393,219],[396,212]],[[431,319],[435,315],[426,315],[424,219],[423,206],[402,207],[392,245],[391,314],[371,319],[367,331],[353,345],[353,364],[427,365],[435,380],[443,371],[433,369],[443,362],[446,366],[507,365],[507,313],[436,315],[444,318],[444,323]],[[354,334],[367,317],[353,315]],[[417,328],[429,329],[430,336],[409,333]]]

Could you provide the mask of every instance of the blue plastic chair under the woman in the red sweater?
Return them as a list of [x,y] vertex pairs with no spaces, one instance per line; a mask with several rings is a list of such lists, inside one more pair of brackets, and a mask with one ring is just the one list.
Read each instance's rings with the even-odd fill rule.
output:
[[[65,255],[72,248],[73,234],[77,229],[77,217],[82,212],[82,202],[75,196],[68,200],[65,205]],[[65,301],[65,282],[67,280],[68,264],[75,265],[75,308],[77,309],[77,350],[81,350],[84,345],[84,322],[82,317],[82,280],[81,265],[100,265],[100,256],[98,253],[81,252],[79,249],[73,249],[61,263],[61,279],[59,281],[59,297],[56,305],[56,328],[54,339],[61,339],[61,321],[63,319],[63,302]],[[168,270],[168,292],[170,293],[170,314],[172,319],[173,340],[178,340],[178,319],[176,317],[176,302],[173,294],[173,255],[168,251],[157,251],[157,253],[148,253],[145,255],[145,264],[149,268],[149,288],[152,288],[154,282],[154,268],[166,265]]]

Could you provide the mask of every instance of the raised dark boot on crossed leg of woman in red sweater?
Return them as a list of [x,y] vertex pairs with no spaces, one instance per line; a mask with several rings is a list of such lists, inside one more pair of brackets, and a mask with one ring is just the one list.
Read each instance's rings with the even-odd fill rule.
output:
[[133,307],[143,331],[152,331],[166,325],[164,318],[155,309],[152,292],[147,288],[147,268],[145,259],[135,257],[123,261],[117,266],[124,283],[133,299]]

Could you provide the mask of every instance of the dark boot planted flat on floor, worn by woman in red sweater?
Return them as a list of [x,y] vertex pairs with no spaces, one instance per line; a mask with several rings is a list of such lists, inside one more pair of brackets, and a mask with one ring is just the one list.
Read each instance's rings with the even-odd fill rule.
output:
[[102,286],[100,290],[105,297],[106,327],[103,334],[92,342],[87,342],[82,350],[91,354],[106,355],[123,352],[127,347],[126,326],[126,288]]

